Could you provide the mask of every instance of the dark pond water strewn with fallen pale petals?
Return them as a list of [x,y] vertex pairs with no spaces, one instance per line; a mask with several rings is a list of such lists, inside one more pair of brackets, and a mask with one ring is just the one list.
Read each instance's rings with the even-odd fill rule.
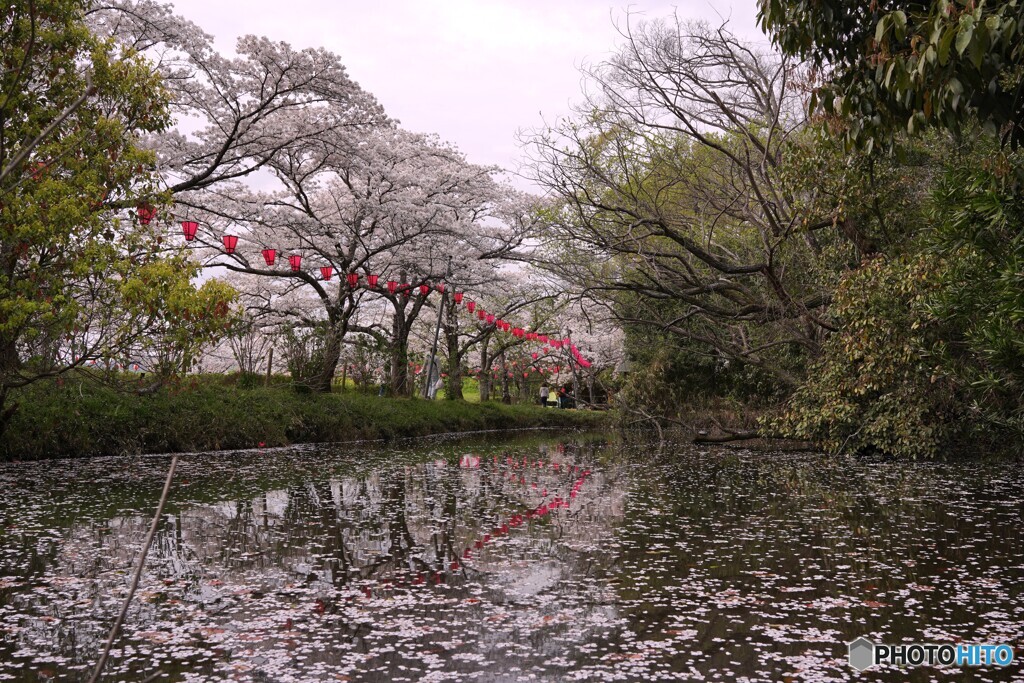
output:
[[[169,459],[0,465],[0,681],[88,678]],[[1019,464],[420,441],[182,459],[109,681],[1024,681]],[[999,642],[870,669],[846,642]]]

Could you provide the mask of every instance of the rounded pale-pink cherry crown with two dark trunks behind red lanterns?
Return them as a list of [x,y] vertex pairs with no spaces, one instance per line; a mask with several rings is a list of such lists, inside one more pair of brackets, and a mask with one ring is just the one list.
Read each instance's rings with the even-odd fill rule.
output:
[[[449,256],[464,273],[521,242],[524,226],[503,213],[510,190],[496,180],[497,169],[389,126],[322,135],[283,150],[268,168],[282,189],[236,185],[197,208],[210,226],[197,240],[207,263],[269,279],[278,314],[324,324],[329,339],[316,389],[330,389],[346,335],[360,333],[391,348],[391,388],[407,393],[413,324],[444,279]],[[240,237],[230,254],[223,253],[228,229]],[[273,250],[272,264],[264,250]]]

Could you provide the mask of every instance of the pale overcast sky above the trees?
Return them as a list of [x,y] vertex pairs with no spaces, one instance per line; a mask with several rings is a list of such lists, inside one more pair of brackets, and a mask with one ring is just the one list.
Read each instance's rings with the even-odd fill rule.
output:
[[553,122],[581,97],[580,67],[620,41],[627,7],[646,17],[728,18],[766,42],[757,0],[177,0],[178,13],[230,52],[256,34],[326,47],[410,130],[437,133],[478,164],[514,169],[516,131]]

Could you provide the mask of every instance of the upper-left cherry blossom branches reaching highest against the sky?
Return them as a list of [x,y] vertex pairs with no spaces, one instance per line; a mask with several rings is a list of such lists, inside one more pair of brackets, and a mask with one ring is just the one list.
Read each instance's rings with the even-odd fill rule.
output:
[[225,57],[171,4],[153,0],[98,2],[88,17],[93,31],[137,50],[164,78],[175,125],[148,143],[179,212],[203,206],[201,190],[222,189],[297,144],[388,123],[327,50],[243,36],[237,56]]

